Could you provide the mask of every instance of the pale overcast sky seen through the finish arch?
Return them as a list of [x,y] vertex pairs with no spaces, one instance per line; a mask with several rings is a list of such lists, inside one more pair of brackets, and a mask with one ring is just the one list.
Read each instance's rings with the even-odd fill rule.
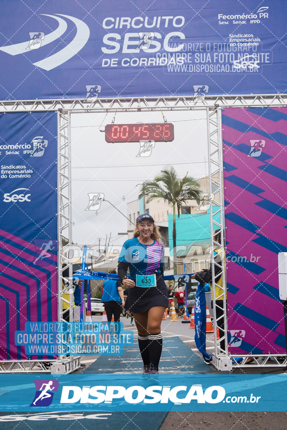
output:
[[[107,143],[99,126],[111,124],[113,113],[73,113],[72,137],[72,218],[73,242],[104,244],[111,233],[111,243],[122,245],[127,236],[126,218],[108,202],[101,203],[97,215],[86,211],[88,193],[104,193],[105,198],[127,215],[127,202],[137,199],[144,180],[153,179],[163,166],[174,165],[181,176],[189,173],[195,178],[207,172],[206,112],[163,112],[174,124],[173,142],[155,142],[149,157],[136,157],[139,143]],[[158,112],[117,112],[115,124],[163,123]],[[204,163],[205,157],[205,163]],[[125,201],[123,201],[125,198]]]

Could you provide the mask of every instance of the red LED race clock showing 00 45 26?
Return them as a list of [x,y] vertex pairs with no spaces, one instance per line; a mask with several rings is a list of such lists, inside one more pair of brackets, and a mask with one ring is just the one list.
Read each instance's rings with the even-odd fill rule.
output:
[[108,124],[105,127],[108,143],[139,142],[150,139],[155,142],[172,142],[175,138],[174,125],[161,124]]

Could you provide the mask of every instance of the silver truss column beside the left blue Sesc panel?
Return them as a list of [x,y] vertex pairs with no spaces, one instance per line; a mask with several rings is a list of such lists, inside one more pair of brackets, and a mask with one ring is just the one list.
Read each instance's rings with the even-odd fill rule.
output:
[[[58,321],[65,321],[67,309],[73,321],[70,125],[70,112],[58,111]],[[68,277],[63,275],[67,267]]]

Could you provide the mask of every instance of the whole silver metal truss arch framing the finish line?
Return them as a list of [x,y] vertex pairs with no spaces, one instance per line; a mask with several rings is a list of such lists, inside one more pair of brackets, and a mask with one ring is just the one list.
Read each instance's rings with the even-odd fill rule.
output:
[[[138,98],[110,98],[110,99],[54,99],[54,100],[25,100],[25,101],[2,101],[0,102],[0,113],[6,112],[33,112],[33,111],[57,111],[58,116],[58,321],[63,319],[63,303],[68,305],[70,321],[73,318],[73,291],[72,291],[72,213],[71,213],[71,113],[93,113],[93,112],[137,112],[137,111],[178,111],[178,110],[204,110],[207,114],[207,137],[208,137],[208,170],[210,182],[210,224],[211,235],[215,229],[221,230],[221,237],[224,237],[224,213],[223,213],[223,160],[222,160],[222,135],[221,135],[221,109],[224,107],[283,107],[287,106],[287,94],[259,94],[259,95],[219,95],[205,96],[203,100],[196,100],[192,96],[187,97],[138,97]],[[219,196],[215,199],[214,196]],[[219,200],[219,203],[216,201]],[[215,211],[213,212],[212,207]],[[220,221],[215,220],[215,215],[220,214]],[[211,236],[212,237],[212,236]],[[212,244],[221,249],[222,267],[225,267],[225,248],[223,243]],[[69,276],[63,276],[64,264],[68,265]],[[218,306],[215,303],[215,265],[212,262],[213,277],[213,300],[214,309]],[[65,266],[66,267],[66,266]],[[250,355],[243,356],[243,362],[238,364],[233,358],[236,356],[228,352],[227,340],[227,310],[226,310],[226,290],[225,290],[225,270],[222,270],[223,287],[221,317],[214,318],[214,331],[217,332],[217,326],[221,324],[220,339],[215,335],[215,353],[213,364],[218,370],[232,370],[234,367],[284,367],[283,363],[278,360],[278,354],[263,355],[263,361],[260,363],[256,358],[254,364],[247,363]],[[63,285],[65,290],[63,290]],[[219,286],[219,285],[217,285]],[[69,295],[69,300],[63,294]],[[224,342],[224,348],[221,348],[221,342]],[[252,356],[251,356],[252,357]],[[77,358],[78,359],[78,358]],[[73,358],[76,360],[76,357]],[[35,372],[35,365],[40,363],[34,361],[34,365],[29,363],[31,373]],[[12,362],[9,362],[12,363]],[[17,362],[15,362],[17,363]],[[57,361],[58,363],[58,361]],[[0,366],[0,373],[14,373],[14,367],[10,366],[8,372],[6,366]],[[32,367],[31,367],[32,366]],[[77,362],[73,370],[80,365]],[[42,372],[47,370],[41,366]],[[40,370],[41,370],[40,369]],[[27,373],[26,366],[20,366],[15,373]]]

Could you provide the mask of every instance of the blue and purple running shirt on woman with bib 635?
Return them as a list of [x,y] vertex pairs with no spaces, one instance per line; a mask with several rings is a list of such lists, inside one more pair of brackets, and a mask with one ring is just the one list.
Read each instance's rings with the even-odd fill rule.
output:
[[154,275],[159,271],[163,273],[163,245],[156,240],[152,245],[144,245],[137,237],[128,239],[123,244],[119,262],[129,264],[132,280],[135,280],[136,275]]

